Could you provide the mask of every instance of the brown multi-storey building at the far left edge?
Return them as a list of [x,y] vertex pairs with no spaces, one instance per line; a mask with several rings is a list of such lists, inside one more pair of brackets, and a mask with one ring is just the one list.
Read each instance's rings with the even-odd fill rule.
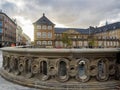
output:
[[15,21],[0,12],[0,46],[10,46],[16,43],[16,28]]

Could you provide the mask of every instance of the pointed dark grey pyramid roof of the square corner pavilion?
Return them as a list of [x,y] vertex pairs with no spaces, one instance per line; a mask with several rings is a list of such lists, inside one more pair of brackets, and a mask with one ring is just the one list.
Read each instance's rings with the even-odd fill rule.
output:
[[43,13],[43,16],[37,20],[35,23],[33,24],[40,24],[40,25],[54,25],[54,23],[52,23],[46,16],[45,14]]

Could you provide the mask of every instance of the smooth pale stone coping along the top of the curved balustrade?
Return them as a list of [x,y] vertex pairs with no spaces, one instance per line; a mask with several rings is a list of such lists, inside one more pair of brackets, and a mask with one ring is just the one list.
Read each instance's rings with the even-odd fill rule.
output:
[[106,53],[120,52],[120,48],[19,48],[19,47],[4,47],[2,51],[9,52],[32,52],[32,53]]

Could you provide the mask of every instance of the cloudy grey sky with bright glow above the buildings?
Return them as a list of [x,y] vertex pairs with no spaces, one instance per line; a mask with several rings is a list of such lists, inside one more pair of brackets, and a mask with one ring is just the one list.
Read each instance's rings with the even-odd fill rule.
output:
[[0,0],[0,9],[16,18],[33,40],[33,25],[43,13],[56,27],[88,28],[120,21],[120,0]]

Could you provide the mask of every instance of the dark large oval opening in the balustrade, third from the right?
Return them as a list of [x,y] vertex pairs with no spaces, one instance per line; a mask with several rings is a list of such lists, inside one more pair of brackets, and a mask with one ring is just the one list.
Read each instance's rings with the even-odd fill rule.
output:
[[67,64],[64,61],[59,63],[58,76],[60,79],[66,79],[67,77]]

